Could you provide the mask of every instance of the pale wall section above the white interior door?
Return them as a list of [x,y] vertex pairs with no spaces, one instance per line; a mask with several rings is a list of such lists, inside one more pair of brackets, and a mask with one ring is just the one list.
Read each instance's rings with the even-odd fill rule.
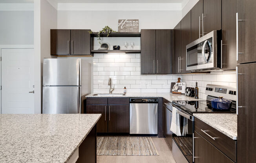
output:
[[34,44],[34,11],[0,11],[0,45]]

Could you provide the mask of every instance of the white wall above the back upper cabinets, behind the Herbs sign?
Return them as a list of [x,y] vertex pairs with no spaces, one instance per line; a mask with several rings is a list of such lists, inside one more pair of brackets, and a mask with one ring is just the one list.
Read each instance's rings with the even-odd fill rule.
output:
[[105,25],[117,31],[118,19],[139,19],[140,29],[173,29],[181,11],[58,11],[58,29],[91,29]]

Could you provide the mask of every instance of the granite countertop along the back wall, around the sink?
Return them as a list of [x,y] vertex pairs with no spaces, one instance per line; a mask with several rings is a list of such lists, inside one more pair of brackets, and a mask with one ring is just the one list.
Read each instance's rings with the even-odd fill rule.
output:
[[[87,95],[86,97],[133,97],[133,98],[141,98],[141,97],[148,97],[148,98],[156,98],[156,97],[162,97],[166,100],[172,102],[172,101],[199,101],[203,99],[195,99],[194,97],[188,97],[185,96],[185,94],[172,94],[172,93],[126,93],[125,96],[93,96],[92,93]],[[104,93],[98,93],[98,94],[104,94]]]

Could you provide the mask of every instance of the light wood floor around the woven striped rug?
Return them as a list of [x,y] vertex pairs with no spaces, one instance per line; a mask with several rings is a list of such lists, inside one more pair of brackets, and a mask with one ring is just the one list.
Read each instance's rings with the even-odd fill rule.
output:
[[165,138],[152,137],[159,156],[97,156],[97,163],[176,163]]

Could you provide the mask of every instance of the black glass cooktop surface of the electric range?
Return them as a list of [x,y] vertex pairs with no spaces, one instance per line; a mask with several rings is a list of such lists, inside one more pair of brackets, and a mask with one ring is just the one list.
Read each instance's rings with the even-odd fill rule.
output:
[[236,113],[235,110],[217,110],[213,109],[210,106],[210,103],[207,101],[172,101],[174,105],[177,105],[177,107],[180,107],[182,110],[185,110],[186,112],[190,114],[194,113]]

